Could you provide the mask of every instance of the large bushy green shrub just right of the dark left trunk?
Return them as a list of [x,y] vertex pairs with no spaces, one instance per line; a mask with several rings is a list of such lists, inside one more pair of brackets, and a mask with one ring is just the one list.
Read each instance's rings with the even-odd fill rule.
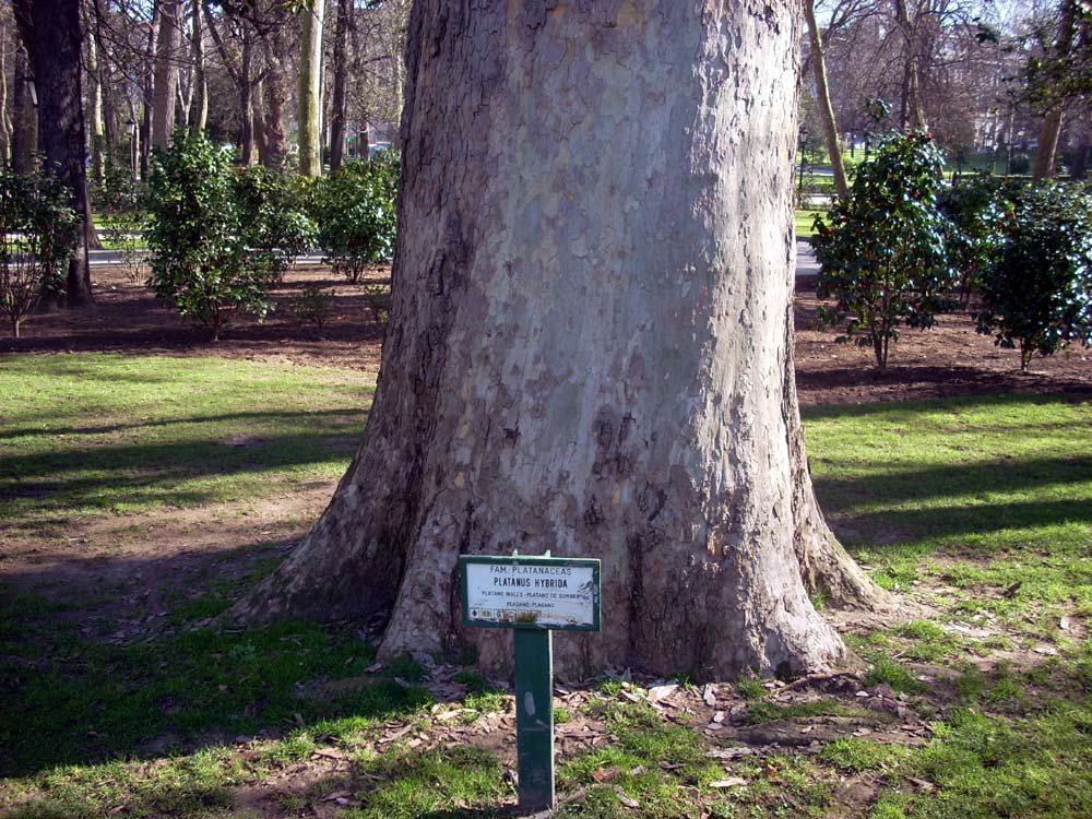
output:
[[[264,242],[264,193],[232,165],[232,151],[179,129],[152,171],[149,285],[213,341],[237,311],[263,319],[287,256]],[[256,204],[257,203],[257,204]]]

